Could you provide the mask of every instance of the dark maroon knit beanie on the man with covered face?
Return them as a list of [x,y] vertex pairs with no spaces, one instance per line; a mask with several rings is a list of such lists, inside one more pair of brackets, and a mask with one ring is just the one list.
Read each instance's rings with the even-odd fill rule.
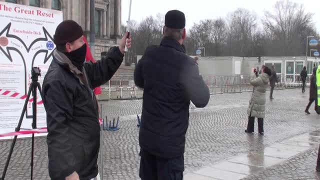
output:
[[55,29],[53,42],[64,44],[72,42],[83,35],[82,27],[74,20],[64,20]]

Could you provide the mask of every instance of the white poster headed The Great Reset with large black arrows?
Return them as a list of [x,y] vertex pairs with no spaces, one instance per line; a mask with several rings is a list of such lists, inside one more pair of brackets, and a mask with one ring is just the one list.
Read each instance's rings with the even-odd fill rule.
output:
[[[42,87],[55,49],[53,34],[62,19],[62,11],[0,1],[0,134],[14,131],[18,124],[32,66],[41,70],[38,82]],[[36,101],[37,128],[46,127],[39,92]],[[21,128],[31,128],[31,123],[32,93]]]

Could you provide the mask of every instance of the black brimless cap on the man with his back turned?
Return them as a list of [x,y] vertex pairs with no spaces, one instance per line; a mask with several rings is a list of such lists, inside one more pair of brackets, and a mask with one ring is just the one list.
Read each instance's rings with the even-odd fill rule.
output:
[[169,28],[181,29],[185,27],[184,13],[179,10],[169,10],[164,17],[164,25]]

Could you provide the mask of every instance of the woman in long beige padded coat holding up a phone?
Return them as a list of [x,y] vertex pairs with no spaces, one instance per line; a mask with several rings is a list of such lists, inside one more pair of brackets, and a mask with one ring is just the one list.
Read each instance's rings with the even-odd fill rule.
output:
[[265,91],[268,87],[269,76],[271,70],[267,66],[261,69],[259,74],[254,69],[254,75],[250,79],[250,84],[253,85],[249,106],[247,109],[248,125],[245,132],[252,133],[254,131],[254,118],[258,118],[258,132],[263,135],[263,118],[265,109]]

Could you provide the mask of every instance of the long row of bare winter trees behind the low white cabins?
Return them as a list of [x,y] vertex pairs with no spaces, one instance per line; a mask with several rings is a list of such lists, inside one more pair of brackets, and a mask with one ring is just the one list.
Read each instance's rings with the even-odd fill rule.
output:
[[[238,8],[226,18],[193,23],[183,44],[189,55],[195,55],[198,47],[205,48],[206,56],[305,55],[306,36],[319,38],[312,16],[302,5],[278,1],[272,11],[265,11],[263,26],[258,28],[256,13]],[[136,62],[136,55],[142,55],[147,46],[160,43],[163,25],[164,15],[160,13],[139,23],[131,21],[132,45],[126,53],[127,65]],[[124,33],[126,27],[122,25],[121,30]]]

